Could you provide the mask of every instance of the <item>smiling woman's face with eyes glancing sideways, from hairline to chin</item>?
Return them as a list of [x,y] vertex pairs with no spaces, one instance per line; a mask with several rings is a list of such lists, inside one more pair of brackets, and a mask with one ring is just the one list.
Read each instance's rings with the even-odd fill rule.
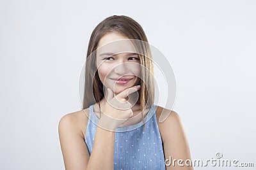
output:
[[128,38],[116,32],[109,32],[100,39],[97,49],[100,81],[115,94],[140,82],[139,55],[135,53],[131,41],[124,39]]

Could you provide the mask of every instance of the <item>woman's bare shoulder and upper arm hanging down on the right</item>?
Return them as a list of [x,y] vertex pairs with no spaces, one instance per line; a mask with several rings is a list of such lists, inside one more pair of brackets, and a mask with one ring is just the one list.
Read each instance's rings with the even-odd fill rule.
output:
[[[176,111],[156,106],[157,124],[163,141],[165,159],[172,156],[173,160],[191,160],[188,139]],[[162,117],[162,118],[161,118]],[[189,169],[192,166],[166,166],[166,169]]]

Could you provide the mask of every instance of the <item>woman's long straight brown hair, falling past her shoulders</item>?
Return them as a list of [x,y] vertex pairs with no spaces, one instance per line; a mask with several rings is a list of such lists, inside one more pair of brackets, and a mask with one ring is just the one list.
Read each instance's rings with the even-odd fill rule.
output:
[[[95,53],[93,54],[93,52],[97,50],[100,38],[109,32],[118,32],[129,39],[138,39],[141,42],[145,42],[136,44],[136,47],[140,48],[140,64],[149,71],[148,72],[145,69],[141,71],[141,79],[143,81],[140,80],[139,83],[139,85],[141,85],[139,91],[140,108],[144,122],[145,115],[143,114],[143,110],[146,106],[151,106],[154,103],[154,69],[152,56],[148,45],[148,39],[141,25],[132,18],[124,15],[113,15],[104,19],[92,32],[86,55],[83,110],[88,108],[91,104],[99,103],[104,97],[103,84],[96,71],[96,55]],[[93,70],[95,75],[93,74]]]

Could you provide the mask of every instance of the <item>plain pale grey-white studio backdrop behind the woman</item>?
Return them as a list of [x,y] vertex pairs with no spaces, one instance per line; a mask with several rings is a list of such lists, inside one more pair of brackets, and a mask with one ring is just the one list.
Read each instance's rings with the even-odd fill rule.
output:
[[58,122],[81,110],[88,39],[111,15],[134,18],[172,64],[173,110],[192,158],[221,152],[256,166],[255,9],[256,1],[1,0],[1,169],[64,169]]

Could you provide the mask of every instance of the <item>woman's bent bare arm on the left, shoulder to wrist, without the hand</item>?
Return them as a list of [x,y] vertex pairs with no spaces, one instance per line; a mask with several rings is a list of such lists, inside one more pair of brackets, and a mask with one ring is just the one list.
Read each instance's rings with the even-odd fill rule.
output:
[[76,114],[70,113],[61,118],[59,123],[65,169],[113,169],[115,132],[97,126],[90,156],[77,119]]

